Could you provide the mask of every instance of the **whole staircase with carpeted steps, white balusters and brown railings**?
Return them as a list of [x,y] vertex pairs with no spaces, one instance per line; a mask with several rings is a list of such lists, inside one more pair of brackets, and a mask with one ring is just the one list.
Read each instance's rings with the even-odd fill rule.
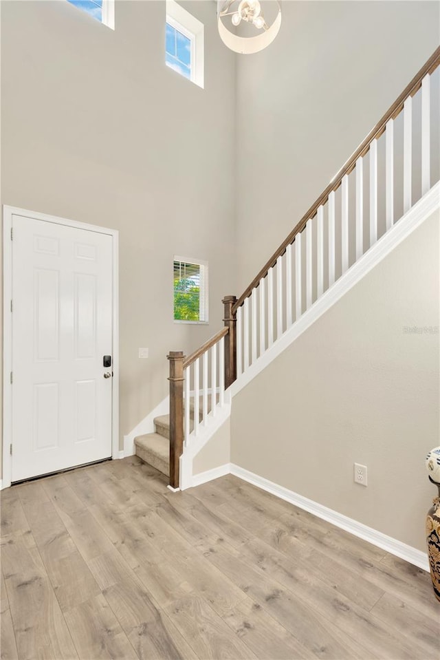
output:
[[[169,476],[172,489],[192,485],[192,458],[230,414],[240,387],[393,249],[406,231],[401,221],[412,214],[419,222],[423,200],[438,207],[432,136],[439,117],[430,90],[439,65],[440,47],[239,299],[223,299],[225,327],[189,357],[168,355],[170,414],[155,418],[155,433],[135,438],[135,451]],[[214,401],[210,392],[218,393]]]

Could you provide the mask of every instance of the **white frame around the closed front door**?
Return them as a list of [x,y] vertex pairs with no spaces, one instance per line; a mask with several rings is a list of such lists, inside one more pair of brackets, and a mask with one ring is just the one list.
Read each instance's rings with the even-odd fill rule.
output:
[[67,220],[65,217],[47,215],[17,209],[15,206],[3,205],[3,479],[1,488],[11,485],[12,460],[10,445],[12,444],[12,385],[10,374],[12,372],[12,215],[44,220],[76,229],[86,229],[100,234],[107,234],[113,239],[113,393],[112,393],[112,428],[111,428],[111,457],[123,458],[124,452],[119,449],[119,262],[118,262],[118,236],[115,229],[98,227],[85,222]]

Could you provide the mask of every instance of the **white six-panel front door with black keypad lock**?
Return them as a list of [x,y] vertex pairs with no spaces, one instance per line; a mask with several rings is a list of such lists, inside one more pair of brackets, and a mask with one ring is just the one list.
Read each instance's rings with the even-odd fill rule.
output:
[[12,482],[111,456],[112,237],[12,215]]

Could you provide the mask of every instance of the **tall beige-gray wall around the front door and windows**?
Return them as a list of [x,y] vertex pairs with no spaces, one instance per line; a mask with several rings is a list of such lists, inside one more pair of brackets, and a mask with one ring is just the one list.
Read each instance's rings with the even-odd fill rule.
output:
[[[116,1],[114,32],[66,1],[1,2],[2,203],[120,232],[121,436],[236,290],[235,59],[214,3],[182,4],[205,25],[205,89],[164,64],[164,2]],[[173,323],[175,254],[209,262],[209,326]]]

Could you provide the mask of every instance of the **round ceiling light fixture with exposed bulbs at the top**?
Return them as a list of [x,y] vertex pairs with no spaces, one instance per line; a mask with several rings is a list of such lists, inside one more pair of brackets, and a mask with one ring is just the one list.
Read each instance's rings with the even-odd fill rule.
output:
[[[278,0],[265,0],[264,2],[265,6],[270,5],[270,3],[276,5],[278,12],[274,21],[267,25],[261,8],[262,3],[259,0],[227,0],[226,2],[220,2],[218,27],[221,41],[236,53],[251,54],[263,50],[274,41],[281,26],[281,5]],[[252,36],[241,36],[231,32],[228,29],[228,19],[223,20],[229,16],[234,28],[238,28],[243,21],[259,32]]]

